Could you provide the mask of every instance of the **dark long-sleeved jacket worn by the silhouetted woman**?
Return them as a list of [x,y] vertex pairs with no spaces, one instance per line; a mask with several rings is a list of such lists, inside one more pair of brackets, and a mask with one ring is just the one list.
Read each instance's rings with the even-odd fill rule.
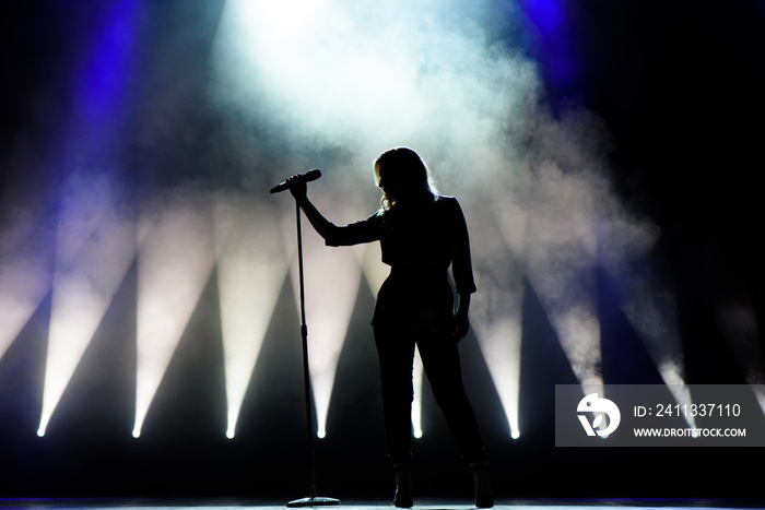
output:
[[462,209],[452,197],[381,210],[366,220],[334,226],[328,246],[380,241],[390,265],[375,307],[375,327],[454,331],[454,290],[475,292],[470,240]]

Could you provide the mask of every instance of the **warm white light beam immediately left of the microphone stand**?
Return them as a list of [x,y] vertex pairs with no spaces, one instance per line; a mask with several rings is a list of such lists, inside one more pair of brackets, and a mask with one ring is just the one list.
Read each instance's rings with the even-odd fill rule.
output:
[[279,216],[257,202],[220,193],[213,215],[229,438],[287,272]]

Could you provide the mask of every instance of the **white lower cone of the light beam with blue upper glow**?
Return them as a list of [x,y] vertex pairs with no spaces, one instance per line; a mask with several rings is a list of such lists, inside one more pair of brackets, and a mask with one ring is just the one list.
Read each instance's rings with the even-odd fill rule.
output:
[[73,179],[68,191],[57,238],[43,432],[136,254],[136,226],[110,210],[106,182]]

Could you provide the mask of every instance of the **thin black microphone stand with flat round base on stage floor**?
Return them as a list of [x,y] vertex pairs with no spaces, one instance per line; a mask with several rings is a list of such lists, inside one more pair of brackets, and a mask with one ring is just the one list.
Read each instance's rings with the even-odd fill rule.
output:
[[310,371],[308,370],[308,327],[306,325],[305,283],[303,278],[303,233],[301,230],[301,205],[295,201],[297,222],[297,271],[301,287],[301,336],[303,339],[303,379],[305,386],[306,422],[308,431],[308,464],[310,470],[309,496],[290,501],[287,507],[319,507],[340,505],[339,499],[316,496],[316,459],[314,454],[314,424],[311,417]]

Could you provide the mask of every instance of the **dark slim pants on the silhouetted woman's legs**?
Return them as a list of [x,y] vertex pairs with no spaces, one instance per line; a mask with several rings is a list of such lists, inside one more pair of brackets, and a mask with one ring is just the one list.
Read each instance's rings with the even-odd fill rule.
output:
[[475,414],[462,386],[457,341],[429,332],[375,327],[375,343],[380,361],[382,412],[390,460],[399,464],[408,463],[410,459],[414,398],[412,366],[416,344],[433,395],[462,456],[471,463],[482,461],[483,444]]

